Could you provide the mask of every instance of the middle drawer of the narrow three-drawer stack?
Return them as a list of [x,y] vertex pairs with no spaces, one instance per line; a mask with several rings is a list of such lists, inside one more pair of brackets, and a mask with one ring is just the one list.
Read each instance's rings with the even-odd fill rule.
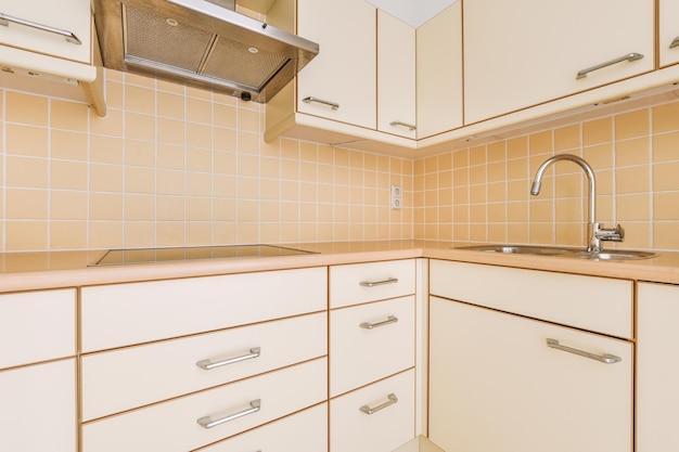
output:
[[330,396],[414,366],[414,296],[330,313]]

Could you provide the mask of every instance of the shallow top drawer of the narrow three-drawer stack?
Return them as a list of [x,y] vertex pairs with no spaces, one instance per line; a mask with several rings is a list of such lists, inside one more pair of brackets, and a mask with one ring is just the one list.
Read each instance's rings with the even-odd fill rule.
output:
[[415,261],[353,263],[330,268],[330,307],[402,297],[415,293]]

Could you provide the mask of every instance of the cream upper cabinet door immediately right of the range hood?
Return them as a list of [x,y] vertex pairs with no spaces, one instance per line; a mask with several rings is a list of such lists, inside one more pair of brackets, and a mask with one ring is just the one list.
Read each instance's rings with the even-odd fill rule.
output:
[[297,76],[298,112],[376,128],[375,16],[364,0],[298,0],[297,34],[320,46]]

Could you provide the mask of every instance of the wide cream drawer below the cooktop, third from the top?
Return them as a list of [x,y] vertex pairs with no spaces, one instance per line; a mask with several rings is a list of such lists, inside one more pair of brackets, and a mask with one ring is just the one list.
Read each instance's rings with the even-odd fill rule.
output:
[[[82,452],[187,452],[326,399],[325,358],[151,405],[82,427]],[[256,401],[260,401],[256,410]],[[245,414],[248,413],[248,414]],[[198,419],[220,421],[205,428]]]

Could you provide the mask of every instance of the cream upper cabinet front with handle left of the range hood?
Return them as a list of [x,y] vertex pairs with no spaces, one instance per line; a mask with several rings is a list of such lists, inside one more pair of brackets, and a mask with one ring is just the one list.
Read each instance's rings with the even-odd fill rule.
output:
[[89,0],[10,1],[2,5],[2,13],[72,33],[81,43],[69,42],[64,36],[39,26],[30,27],[15,22],[0,28],[1,43],[81,63],[90,62]]

